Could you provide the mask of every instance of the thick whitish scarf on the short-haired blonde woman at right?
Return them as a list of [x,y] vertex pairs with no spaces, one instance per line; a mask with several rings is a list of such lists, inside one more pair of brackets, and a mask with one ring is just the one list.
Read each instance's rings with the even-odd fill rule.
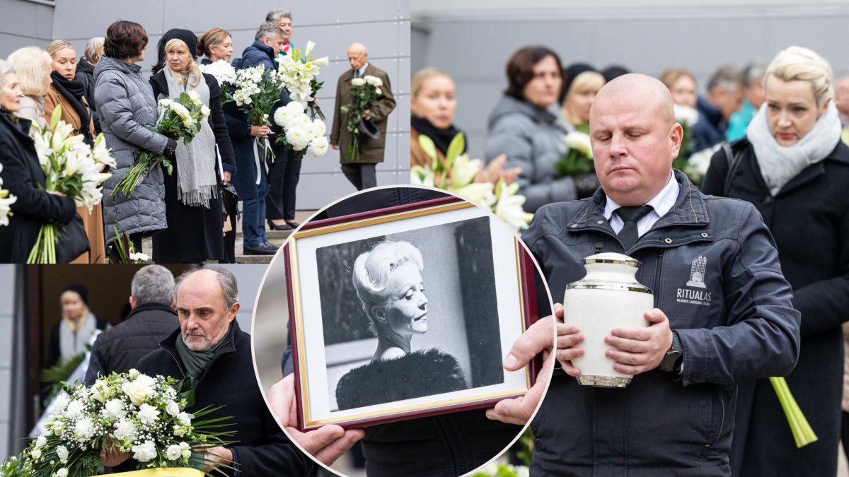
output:
[[834,100],[807,134],[795,144],[782,146],[773,137],[767,124],[767,104],[764,103],[752,118],[746,137],[755,149],[757,165],[761,168],[769,192],[778,194],[784,184],[799,172],[824,160],[841,140],[841,120]]

